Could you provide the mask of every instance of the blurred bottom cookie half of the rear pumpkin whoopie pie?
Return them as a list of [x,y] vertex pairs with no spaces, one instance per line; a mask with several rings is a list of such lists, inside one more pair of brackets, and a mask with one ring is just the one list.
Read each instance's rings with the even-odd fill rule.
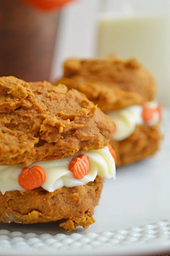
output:
[[134,133],[123,141],[110,141],[114,148],[117,162],[116,166],[126,165],[152,156],[158,149],[162,139],[159,125],[139,125]]

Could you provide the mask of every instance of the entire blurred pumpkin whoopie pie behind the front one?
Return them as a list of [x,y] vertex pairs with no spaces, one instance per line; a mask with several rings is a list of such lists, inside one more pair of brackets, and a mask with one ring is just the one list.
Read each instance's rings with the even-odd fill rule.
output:
[[162,136],[156,83],[136,59],[68,59],[63,78],[55,84],[59,83],[86,94],[116,122],[110,142],[116,166],[142,160],[158,150]]

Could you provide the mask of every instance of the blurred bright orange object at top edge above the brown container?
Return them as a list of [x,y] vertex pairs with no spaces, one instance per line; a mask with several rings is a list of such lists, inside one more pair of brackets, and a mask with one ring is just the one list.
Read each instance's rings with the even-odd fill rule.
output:
[[41,9],[41,10],[52,10],[60,9],[68,2],[73,0],[21,0],[29,5]]

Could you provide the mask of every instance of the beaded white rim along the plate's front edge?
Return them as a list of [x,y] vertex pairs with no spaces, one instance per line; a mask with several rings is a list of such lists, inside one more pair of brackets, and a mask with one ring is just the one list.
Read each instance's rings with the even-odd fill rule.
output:
[[[31,238],[31,234],[35,234]],[[69,241],[70,240],[70,241]],[[111,244],[112,242],[114,244]],[[21,243],[20,243],[21,242]],[[23,246],[23,242],[25,246]],[[45,242],[45,243],[44,243]],[[78,246],[75,242],[78,242]],[[8,246],[3,246],[7,244]],[[20,246],[19,246],[20,243]],[[51,247],[58,244],[58,248]],[[108,246],[110,244],[110,246]],[[39,246],[41,245],[41,246]],[[123,246],[122,246],[123,245]],[[4,247],[4,249],[3,249]],[[63,247],[63,248],[62,248]],[[170,218],[150,225],[125,230],[102,231],[85,234],[72,233],[56,235],[0,229],[0,255],[144,255],[170,252]]]

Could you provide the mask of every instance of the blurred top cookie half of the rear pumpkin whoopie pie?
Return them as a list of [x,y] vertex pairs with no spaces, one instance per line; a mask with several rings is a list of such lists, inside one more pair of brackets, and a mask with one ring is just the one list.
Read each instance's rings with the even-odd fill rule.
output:
[[151,73],[137,60],[117,58],[79,60],[64,63],[64,83],[86,94],[102,111],[142,104],[155,97],[156,84]]

